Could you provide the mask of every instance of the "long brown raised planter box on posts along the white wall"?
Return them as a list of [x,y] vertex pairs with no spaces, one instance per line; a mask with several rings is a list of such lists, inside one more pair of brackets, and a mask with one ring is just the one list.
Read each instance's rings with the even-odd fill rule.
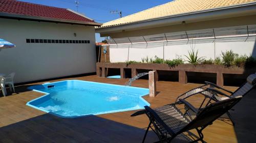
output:
[[97,63],[96,67],[98,76],[106,77],[107,68],[116,68],[120,69],[122,78],[125,78],[124,69],[132,69],[132,77],[137,74],[137,69],[154,70],[156,72],[158,70],[179,71],[179,82],[181,83],[187,83],[186,72],[217,73],[217,84],[219,86],[223,86],[223,74],[251,74],[256,72],[256,66],[252,68],[242,68],[237,66],[225,67],[223,65],[182,64],[175,67],[169,67],[167,64],[138,63],[126,65],[125,63]]

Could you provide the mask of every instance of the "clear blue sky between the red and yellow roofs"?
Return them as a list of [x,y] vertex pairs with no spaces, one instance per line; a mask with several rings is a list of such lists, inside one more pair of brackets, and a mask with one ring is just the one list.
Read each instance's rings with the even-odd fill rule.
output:
[[[76,11],[75,0],[19,0],[23,2],[67,8]],[[88,1],[78,0],[78,12],[82,13],[97,22],[104,23],[119,18],[118,14],[111,14],[110,11],[118,10],[122,11],[122,15],[130,15],[154,6],[165,4],[172,0],[110,0],[110,1]],[[103,38],[100,38],[99,34],[96,34],[96,41],[100,42]]]

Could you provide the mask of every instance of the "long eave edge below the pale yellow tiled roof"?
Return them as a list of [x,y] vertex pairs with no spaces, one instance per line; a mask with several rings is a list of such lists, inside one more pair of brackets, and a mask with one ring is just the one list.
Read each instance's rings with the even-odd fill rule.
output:
[[176,25],[182,24],[182,21],[186,23],[199,22],[206,20],[238,17],[245,15],[255,15],[256,14],[256,2],[247,3],[242,5],[234,5],[229,7],[208,9],[197,12],[183,13],[178,15],[171,15],[165,17],[159,17],[154,19],[136,21],[132,23],[112,25],[106,27],[97,27],[96,33],[109,34],[122,31],[131,31],[136,29],[160,27],[165,25]]

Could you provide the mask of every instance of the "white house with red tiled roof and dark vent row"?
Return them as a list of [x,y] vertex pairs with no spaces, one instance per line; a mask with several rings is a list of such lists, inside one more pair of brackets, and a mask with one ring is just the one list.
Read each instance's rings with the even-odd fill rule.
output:
[[0,73],[27,82],[96,71],[95,26],[70,9],[0,1],[0,38],[16,48],[0,52]]

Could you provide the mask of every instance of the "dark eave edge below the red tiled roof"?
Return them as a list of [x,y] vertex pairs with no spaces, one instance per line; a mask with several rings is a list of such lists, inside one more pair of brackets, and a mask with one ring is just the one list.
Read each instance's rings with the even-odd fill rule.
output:
[[29,20],[29,21],[44,21],[44,22],[66,23],[66,24],[77,24],[77,25],[90,25],[90,26],[102,25],[101,23],[97,23],[97,22],[83,22],[83,21],[73,21],[73,20],[55,19],[55,18],[53,19],[53,18],[47,18],[47,17],[18,15],[18,14],[3,13],[3,12],[0,12],[0,18]]

